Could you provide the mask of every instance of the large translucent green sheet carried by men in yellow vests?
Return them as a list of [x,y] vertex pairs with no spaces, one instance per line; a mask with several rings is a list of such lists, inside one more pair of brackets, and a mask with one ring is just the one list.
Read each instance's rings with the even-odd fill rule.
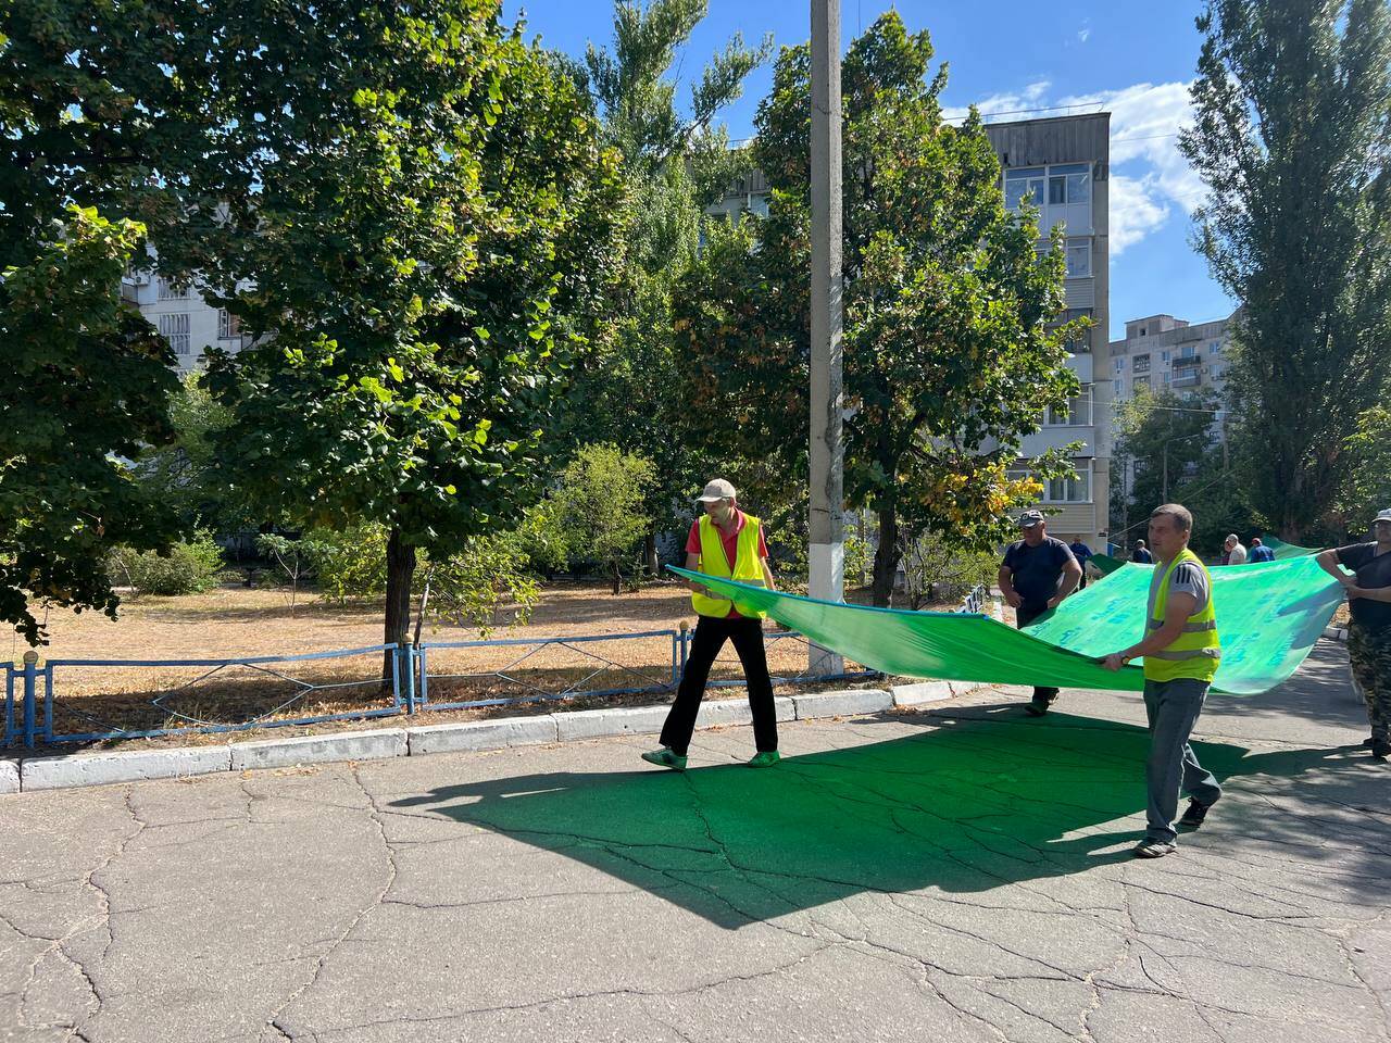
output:
[[[1138,663],[1113,673],[1097,658],[1143,636],[1149,565],[1123,565],[1027,633],[975,613],[842,605],[673,572],[885,673],[1120,691],[1145,684]],[[1313,558],[1214,569],[1212,576],[1223,645],[1213,687],[1231,695],[1255,695],[1289,677],[1342,601],[1340,584]]]

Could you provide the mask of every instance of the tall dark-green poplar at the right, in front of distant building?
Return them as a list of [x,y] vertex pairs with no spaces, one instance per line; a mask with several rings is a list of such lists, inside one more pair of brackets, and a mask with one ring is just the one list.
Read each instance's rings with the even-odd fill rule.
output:
[[1237,409],[1251,496],[1316,534],[1341,449],[1388,388],[1391,10],[1383,0],[1212,0],[1180,150],[1207,185],[1196,245],[1242,302]]

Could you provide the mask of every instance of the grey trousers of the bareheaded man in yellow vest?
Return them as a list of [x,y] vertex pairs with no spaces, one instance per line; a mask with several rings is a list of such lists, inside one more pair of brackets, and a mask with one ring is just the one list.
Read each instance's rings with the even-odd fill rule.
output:
[[1149,826],[1145,836],[1171,841],[1178,837],[1174,819],[1178,816],[1180,790],[1200,804],[1216,804],[1221,786],[1206,770],[1188,745],[1203,700],[1207,681],[1181,677],[1174,681],[1145,681],[1145,715],[1149,719],[1149,759],[1145,762],[1145,782],[1149,786]]

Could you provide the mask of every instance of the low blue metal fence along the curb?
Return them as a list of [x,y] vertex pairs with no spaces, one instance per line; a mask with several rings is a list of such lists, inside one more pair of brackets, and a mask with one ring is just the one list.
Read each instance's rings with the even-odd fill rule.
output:
[[[650,641],[652,638],[668,638],[670,641],[670,668],[652,668],[651,665],[625,665],[609,655],[601,654],[604,644]],[[26,654],[25,663],[17,666],[4,663],[6,670],[6,704],[4,704],[4,737],[0,747],[24,745],[29,750],[36,745],[60,743],[96,743],[115,738],[153,738],[159,736],[177,734],[210,734],[245,731],[256,727],[291,727],[300,725],[316,725],[330,720],[359,720],[369,718],[413,715],[426,711],[474,709],[484,706],[501,706],[524,702],[558,701],[577,697],[605,698],[630,694],[664,694],[670,693],[680,683],[682,672],[690,649],[691,631],[686,627],[680,630],[645,630],[632,634],[590,634],[583,637],[538,637],[538,638],[499,638],[490,641],[427,641],[415,645],[370,645],[364,648],[342,648],[330,652],[310,652],[305,655],[287,656],[242,656],[230,659],[50,659],[42,666],[38,665],[35,654]],[[797,641],[805,644],[807,640],[793,631],[768,631],[766,641],[775,647],[780,641]],[[448,669],[431,669],[431,652],[438,663],[444,652],[449,649],[516,649],[517,655],[504,666],[488,670],[449,672]],[[529,661],[545,649],[563,649],[576,656],[581,666],[566,668],[554,672],[561,676],[552,684],[538,683],[537,677],[527,677],[524,672],[530,669]],[[306,680],[294,674],[296,665],[316,663],[325,661],[342,661],[351,656],[380,655],[391,659],[391,680],[385,691],[377,698],[384,705],[352,709],[335,713],[303,713],[292,716],[278,716],[289,711],[296,704],[305,702],[312,695],[332,694],[348,688],[362,688],[364,686],[383,684],[381,672],[374,670],[371,677],[363,680]],[[210,680],[225,679],[234,669],[249,670],[278,684],[285,684],[284,697],[277,695],[273,705],[246,716],[243,720],[228,722],[214,720],[207,715],[200,715],[182,709],[177,704],[177,697],[188,695],[198,686]],[[167,720],[163,727],[129,727],[114,720],[104,719],[89,709],[100,711],[82,697],[64,698],[61,684],[64,674],[74,669],[103,669],[103,670],[149,670],[175,669],[202,672],[192,679],[160,691],[153,698],[145,701],[145,706],[157,711]],[[573,674],[573,676],[572,676]],[[627,684],[600,681],[595,687],[588,687],[597,679],[629,680]],[[826,680],[861,680],[878,677],[874,670],[853,670],[835,677],[825,674],[794,674],[775,676],[775,684],[803,684],[808,681]],[[437,698],[431,693],[447,690],[451,681],[463,681],[463,687],[502,687],[508,691],[488,694],[483,698],[449,700]],[[741,686],[739,679],[711,679],[709,687]],[[82,705],[78,705],[82,704]],[[86,708],[83,708],[86,706]],[[56,725],[56,709],[58,723]],[[143,711],[149,716],[149,709]],[[71,722],[82,722],[82,727],[72,727]]]

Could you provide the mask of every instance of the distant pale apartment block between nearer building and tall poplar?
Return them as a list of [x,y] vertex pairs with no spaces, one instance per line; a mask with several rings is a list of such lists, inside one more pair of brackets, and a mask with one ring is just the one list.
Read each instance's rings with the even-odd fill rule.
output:
[[1221,392],[1227,384],[1228,348],[1235,313],[1189,324],[1173,316],[1125,323],[1125,339],[1111,341],[1111,394],[1117,401],[1150,391]]

